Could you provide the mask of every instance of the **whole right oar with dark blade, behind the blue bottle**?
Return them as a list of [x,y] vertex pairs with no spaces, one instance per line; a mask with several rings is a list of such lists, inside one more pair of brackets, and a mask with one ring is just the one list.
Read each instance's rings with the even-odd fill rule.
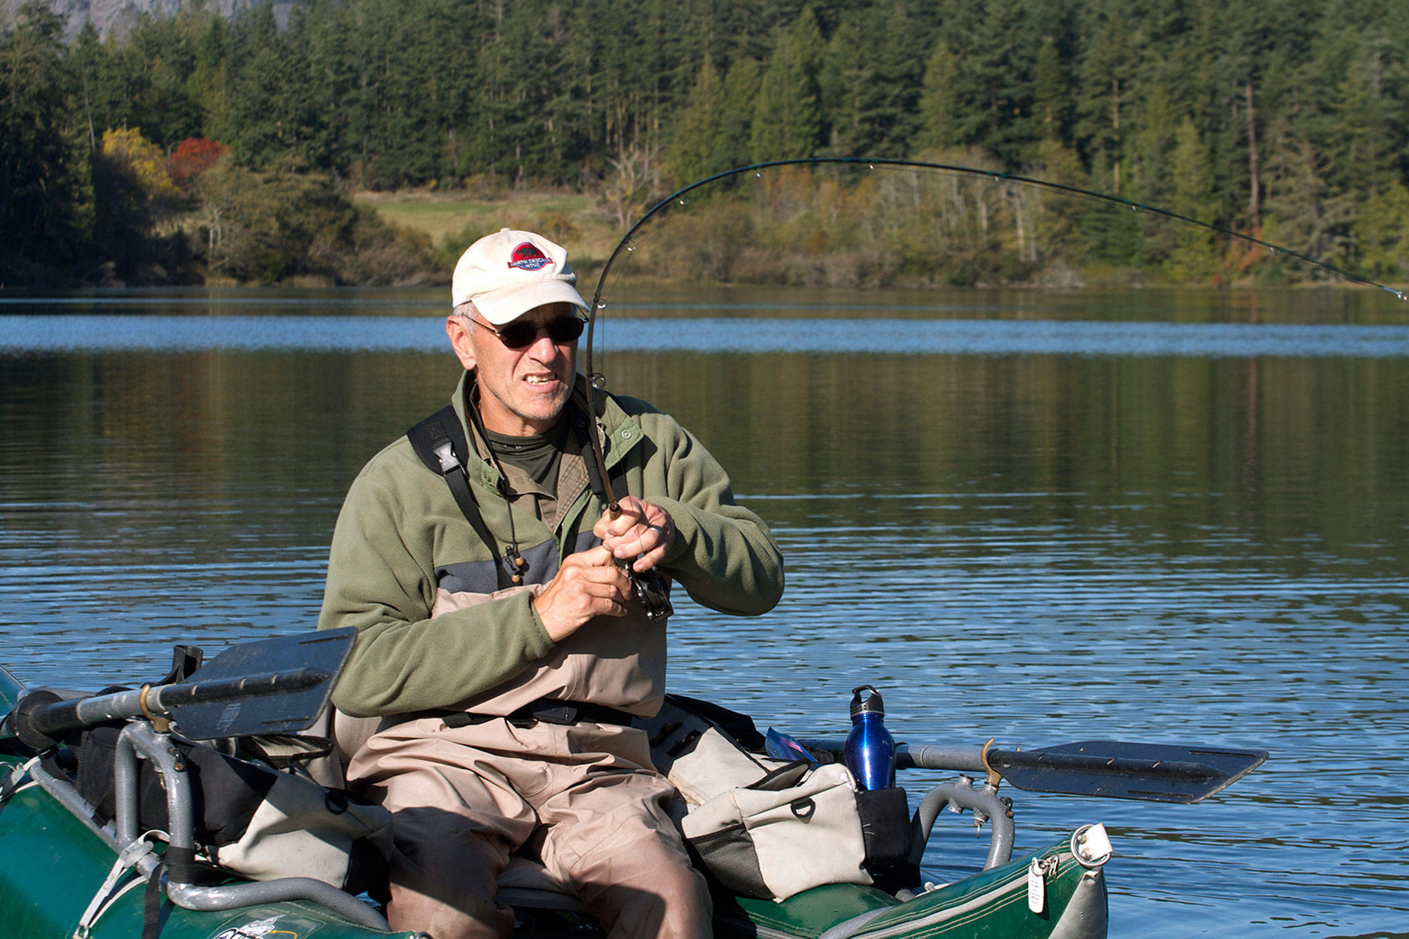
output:
[[[841,741],[803,738],[810,750],[840,756]],[[995,773],[1033,793],[1136,798],[1150,802],[1198,802],[1243,779],[1267,759],[1267,750],[1239,750],[1177,743],[1081,741],[1037,750],[988,746],[896,746],[898,769]]]

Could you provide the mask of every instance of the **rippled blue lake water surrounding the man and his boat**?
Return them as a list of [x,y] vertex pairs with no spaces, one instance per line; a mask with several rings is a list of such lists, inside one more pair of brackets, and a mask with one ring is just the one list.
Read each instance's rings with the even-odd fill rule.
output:
[[[1372,290],[665,291],[599,320],[774,527],[788,593],[681,600],[676,691],[909,742],[1271,750],[1103,821],[1115,936],[1409,936],[1409,307]],[[0,294],[0,662],[159,677],[314,625],[352,476],[457,377],[442,291]],[[902,779],[912,801],[940,774]],[[982,863],[968,817],[927,864]]]

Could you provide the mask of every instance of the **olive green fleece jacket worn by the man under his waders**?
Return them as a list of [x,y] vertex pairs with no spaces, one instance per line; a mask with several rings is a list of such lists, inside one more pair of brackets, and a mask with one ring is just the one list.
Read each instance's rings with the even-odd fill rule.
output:
[[[452,398],[462,425],[466,379]],[[644,401],[599,394],[597,415],[609,473],[675,524],[661,570],[712,610],[772,610],[783,588],[782,553],[762,519],[734,503],[714,458]],[[547,583],[561,557],[596,543],[592,527],[604,505],[583,490],[550,531],[533,514],[510,508],[488,462],[471,456],[466,469],[485,524],[500,542],[497,559],[404,436],[372,458],[348,490],[318,618],[320,629],[358,629],[333,695],[341,711],[373,717],[452,707],[492,693],[552,653],[531,593],[493,595],[510,512],[513,538],[528,557],[527,581]],[[455,594],[485,601],[452,608],[445,598]]]

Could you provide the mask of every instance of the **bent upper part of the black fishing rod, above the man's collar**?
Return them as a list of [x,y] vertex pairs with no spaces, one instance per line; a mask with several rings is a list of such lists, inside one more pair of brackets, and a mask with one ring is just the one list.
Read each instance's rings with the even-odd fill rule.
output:
[[595,332],[595,327],[596,327],[597,311],[606,308],[606,303],[603,301],[603,296],[606,293],[607,277],[612,273],[612,267],[617,263],[617,258],[620,258],[626,252],[635,251],[635,245],[637,245],[635,235],[637,235],[638,231],[641,231],[641,228],[648,221],[651,221],[651,218],[654,218],[655,215],[661,214],[666,208],[671,208],[672,206],[676,206],[676,204],[685,206],[686,204],[685,196],[689,194],[690,191],[696,190],[696,189],[700,189],[702,186],[709,186],[710,183],[716,183],[719,180],[723,180],[723,179],[730,179],[733,176],[741,176],[744,173],[755,173],[755,175],[761,176],[762,170],[772,169],[775,166],[810,166],[810,165],[814,165],[814,163],[816,165],[821,165],[821,163],[834,163],[836,165],[836,163],[840,163],[840,165],[847,165],[847,166],[865,166],[868,169],[875,169],[876,166],[896,166],[896,168],[909,168],[909,169],[938,169],[938,170],[945,170],[945,172],[950,172],[950,173],[958,173],[961,176],[982,176],[982,177],[992,179],[993,182],[998,182],[998,183],[1003,183],[1003,182],[1007,182],[1007,183],[1022,183],[1024,186],[1034,186],[1034,187],[1038,187],[1038,189],[1047,189],[1047,190],[1057,191],[1057,193],[1065,193],[1065,194],[1071,194],[1071,196],[1082,196],[1085,198],[1093,198],[1093,200],[1099,200],[1099,201],[1112,203],[1115,206],[1123,206],[1123,207],[1130,208],[1133,211],[1150,213],[1153,215],[1161,215],[1164,218],[1172,218],[1174,221],[1181,221],[1181,222],[1185,222],[1188,225],[1195,225],[1198,228],[1205,228],[1208,231],[1216,232],[1219,235],[1224,235],[1227,238],[1234,238],[1234,239],[1241,241],[1241,242],[1248,244],[1248,245],[1257,245],[1260,248],[1265,248],[1268,252],[1271,252],[1274,255],[1286,255],[1288,258],[1296,258],[1298,260],[1306,262],[1308,265],[1310,265],[1313,267],[1320,267],[1322,270],[1333,273],[1333,275],[1336,275],[1339,277],[1343,277],[1343,279],[1346,279],[1346,280],[1348,280],[1351,283],[1358,283],[1358,284],[1364,284],[1367,287],[1375,287],[1377,290],[1384,290],[1385,293],[1394,294],[1399,300],[1409,298],[1409,297],[1406,297],[1405,291],[1402,291],[1402,290],[1395,290],[1394,287],[1385,286],[1385,284],[1382,284],[1379,282],[1370,280],[1368,277],[1361,277],[1360,275],[1350,273],[1348,270],[1343,270],[1341,267],[1337,267],[1336,265],[1327,263],[1324,260],[1317,260],[1316,258],[1310,258],[1310,256],[1303,255],[1303,253],[1301,253],[1298,251],[1292,251],[1291,248],[1284,248],[1281,245],[1274,245],[1272,242],[1262,241],[1261,238],[1254,238],[1253,235],[1247,235],[1247,234],[1243,234],[1240,231],[1233,231],[1231,228],[1224,228],[1223,225],[1215,225],[1212,222],[1199,221],[1198,218],[1191,218],[1189,215],[1184,215],[1184,214],[1179,214],[1177,211],[1171,211],[1168,208],[1160,208],[1158,206],[1146,206],[1143,203],[1136,203],[1136,201],[1131,201],[1129,198],[1122,198],[1120,196],[1112,196],[1109,193],[1099,193],[1099,191],[1096,191],[1093,189],[1082,189],[1081,186],[1069,186],[1067,183],[1054,183],[1054,182],[1045,180],[1045,179],[1036,179],[1033,176],[1020,176],[1017,173],[1000,173],[1000,172],[989,170],[989,169],[976,169],[974,166],[958,166],[958,165],[954,165],[954,163],[931,163],[931,162],[927,162],[927,160],[886,159],[886,158],[862,158],[862,156],[803,156],[803,158],[795,158],[795,159],[768,160],[768,162],[764,162],[764,163],[750,163],[748,166],[737,166],[734,169],[727,169],[727,170],[724,170],[721,173],[714,173],[713,176],[706,176],[704,179],[696,180],[696,182],[690,183],[689,186],[685,186],[682,189],[675,190],[674,193],[671,193],[669,196],[666,196],[665,198],[662,198],[661,201],[658,201],[655,206],[652,206],[650,211],[647,211],[644,215],[641,215],[641,218],[638,218],[637,222],[634,225],[631,225],[631,228],[626,232],[626,235],[621,237],[621,241],[617,242],[616,249],[613,249],[612,255],[607,258],[607,263],[602,267],[602,275],[597,277],[596,291],[592,294],[592,308],[588,311],[588,349],[586,349],[586,360],[585,360],[586,373],[588,373],[588,376],[590,379],[589,380],[589,386],[593,387],[593,389],[600,389],[604,384],[604,379],[602,376],[599,376],[593,370],[593,365],[592,365],[592,348],[593,348],[593,332]]

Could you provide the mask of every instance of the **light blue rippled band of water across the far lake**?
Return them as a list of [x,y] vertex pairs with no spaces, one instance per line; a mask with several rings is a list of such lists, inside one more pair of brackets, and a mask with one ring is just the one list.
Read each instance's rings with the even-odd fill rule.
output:
[[[440,317],[7,315],[3,352],[442,351]],[[631,320],[612,348],[675,352],[1405,358],[1409,327],[1014,320]]]

